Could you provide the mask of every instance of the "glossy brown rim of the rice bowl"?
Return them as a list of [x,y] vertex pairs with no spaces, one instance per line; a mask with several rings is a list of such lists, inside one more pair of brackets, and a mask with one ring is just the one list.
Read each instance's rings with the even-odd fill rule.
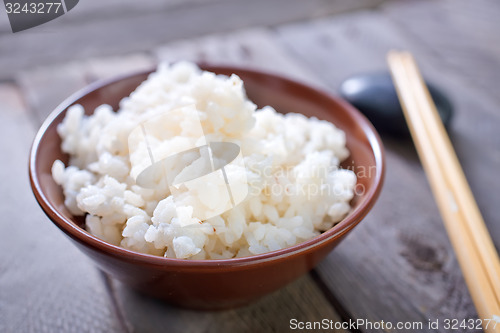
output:
[[[69,237],[78,241],[79,243],[91,247],[98,252],[105,252],[106,254],[119,257],[122,259],[128,259],[133,261],[143,262],[149,265],[154,266],[183,266],[185,268],[200,268],[200,267],[230,267],[230,266],[242,266],[248,264],[257,264],[268,261],[281,260],[285,257],[299,255],[300,253],[306,253],[311,251],[315,247],[319,247],[328,241],[333,241],[337,239],[341,235],[347,233],[349,230],[354,228],[365,216],[368,214],[369,210],[375,204],[378,196],[380,195],[382,185],[385,179],[385,152],[382,144],[382,140],[378,135],[377,131],[370,123],[370,121],[361,114],[354,106],[349,104],[347,101],[343,100],[341,97],[337,97],[323,90],[322,88],[313,87],[308,84],[304,84],[298,82],[294,79],[284,77],[279,74],[269,73],[263,70],[258,70],[254,68],[234,66],[234,65],[219,65],[219,64],[207,64],[201,63],[199,64],[202,69],[206,69],[209,71],[217,71],[217,70],[225,70],[236,73],[248,73],[251,75],[257,76],[267,76],[271,77],[274,80],[282,81],[286,85],[295,86],[301,90],[307,91],[309,93],[313,93],[316,95],[321,95],[322,98],[326,98],[332,101],[334,104],[339,105],[343,108],[347,113],[350,114],[352,118],[359,124],[359,126],[363,129],[363,133],[365,134],[371,151],[375,157],[375,166],[376,173],[373,181],[373,186],[366,193],[365,199],[361,202],[358,207],[352,210],[343,220],[337,223],[332,228],[327,231],[321,233],[320,235],[313,237],[304,242],[280,249],[275,251],[270,251],[262,254],[256,254],[247,257],[240,258],[229,258],[229,259],[199,259],[199,260],[191,260],[191,259],[177,259],[177,258],[168,258],[162,256],[156,256],[152,254],[140,253],[132,250],[125,249],[123,247],[113,245],[108,243],[94,235],[85,229],[76,225],[73,221],[65,218],[58,209],[52,205],[47,199],[44,191],[42,190],[41,183],[38,179],[37,175],[37,154],[40,147],[40,142],[45,135],[45,132],[50,127],[50,125],[56,120],[56,118],[71,105],[76,104],[76,102],[83,98],[85,95],[90,94],[96,90],[99,90],[108,85],[112,85],[124,79],[129,79],[134,76],[141,75],[149,75],[156,68],[135,71],[131,73],[126,73],[122,75],[117,75],[109,79],[98,80],[93,82],[84,88],[78,90],[73,93],[71,96],[66,98],[61,104],[59,104],[45,119],[40,129],[38,130],[31,147],[30,155],[29,155],[29,178],[30,185],[32,191],[35,195],[35,198],[44,211],[44,213],[49,217],[49,219],[64,233],[66,233]],[[124,96],[125,97],[125,96]]]

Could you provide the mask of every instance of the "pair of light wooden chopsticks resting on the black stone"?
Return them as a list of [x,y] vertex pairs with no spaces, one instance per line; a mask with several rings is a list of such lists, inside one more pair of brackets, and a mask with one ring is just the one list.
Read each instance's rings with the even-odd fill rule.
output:
[[389,52],[387,60],[406,122],[483,328],[498,333],[498,253],[415,60],[409,52],[397,51]]

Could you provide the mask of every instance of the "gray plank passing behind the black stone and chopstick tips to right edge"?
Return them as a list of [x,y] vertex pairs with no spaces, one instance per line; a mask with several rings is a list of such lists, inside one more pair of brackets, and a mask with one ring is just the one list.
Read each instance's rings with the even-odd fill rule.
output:
[[[456,111],[451,131],[455,148],[476,195],[491,202],[491,188],[485,184],[493,182],[497,185],[500,181],[486,178],[491,172],[487,170],[498,161],[497,147],[500,146],[500,138],[495,134],[500,113],[491,94],[470,86],[467,78],[449,66],[446,58],[436,56],[425,45],[413,41],[402,27],[378,13],[346,15],[314,22],[309,29],[303,25],[292,25],[280,31],[283,32],[280,33],[283,42],[290,50],[332,89],[355,73],[386,70],[385,55],[391,48],[412,51],[424,75],[452,98]],[[497,246],[500,246],[500,227],[494,223],[493,208],[494,205],[491,205],[483,213],[485,219],[490,221],[488,226]]]

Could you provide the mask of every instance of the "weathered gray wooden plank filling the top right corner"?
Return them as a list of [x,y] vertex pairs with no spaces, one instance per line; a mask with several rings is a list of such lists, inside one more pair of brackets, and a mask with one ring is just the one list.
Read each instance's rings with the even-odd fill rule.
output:
[[415,1],[391,4],[384,13],[460,72],[471,87],[500,101],[498,1]]

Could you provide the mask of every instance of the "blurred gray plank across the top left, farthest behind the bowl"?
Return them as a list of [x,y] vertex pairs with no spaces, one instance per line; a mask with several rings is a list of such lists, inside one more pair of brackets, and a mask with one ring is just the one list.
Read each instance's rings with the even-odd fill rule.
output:
[[383,1],[80,1],[68,14],[40,27],[0,33],[0,79],[37,65],[147,51],[182,38],[304,20]]

